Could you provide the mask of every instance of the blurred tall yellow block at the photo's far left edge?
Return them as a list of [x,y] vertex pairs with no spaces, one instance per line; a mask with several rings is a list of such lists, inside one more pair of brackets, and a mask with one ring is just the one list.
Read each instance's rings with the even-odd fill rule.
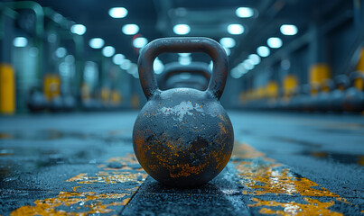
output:
[[15,112],[15,73],[9,64],[0,64],[0,113]]

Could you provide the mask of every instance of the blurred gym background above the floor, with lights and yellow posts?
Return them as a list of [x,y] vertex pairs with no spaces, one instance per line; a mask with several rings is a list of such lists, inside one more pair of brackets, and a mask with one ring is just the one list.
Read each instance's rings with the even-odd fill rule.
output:
[[[225,48],[228,109],[360,113],[363,7],[363,0],[3,0],[0,113],[139,109],[140,49],[177,36]],[[176,65],[186,70],[172,73]],[[154,61],[165,89],[203,90],[211,68],[201,53]]]

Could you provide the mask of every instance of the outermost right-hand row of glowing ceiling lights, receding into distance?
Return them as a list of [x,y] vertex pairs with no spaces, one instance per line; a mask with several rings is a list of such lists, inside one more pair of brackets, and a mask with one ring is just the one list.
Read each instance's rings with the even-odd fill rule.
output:
[[[284,35],[291,36],[297,34],[298,29],[293,24],[283,24],[280,27],[280,31]],[[282,47],[283,42],[278,37],[271,37],[266,40],[266,45],[271,49],[279,49]],[[270,55],[270,49],[267,46],[260,46],[257,48],[257,54],[248,55],[247,59],[231,70],[231,76],[233,78],[240,78],[247,74],[248,71],[254,69],[260,63],[261,58],[266,58]]]

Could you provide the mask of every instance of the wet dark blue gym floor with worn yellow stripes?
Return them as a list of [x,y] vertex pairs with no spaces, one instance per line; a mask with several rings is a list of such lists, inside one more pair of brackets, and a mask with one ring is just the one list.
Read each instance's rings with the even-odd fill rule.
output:
[[229,112],[209,184],[166,187],[133,154],[137,112],[0,118],[0,215],[364,215],[364,117]]

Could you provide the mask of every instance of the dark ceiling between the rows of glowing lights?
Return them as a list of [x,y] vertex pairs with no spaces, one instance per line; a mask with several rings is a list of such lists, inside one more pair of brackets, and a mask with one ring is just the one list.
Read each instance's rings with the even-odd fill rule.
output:
[[[67,17],[75,23],[84,24],[87,55],[100,52],[89,48],[89,39],[99,37],[117,49],[117,53],[136,62],[137,49],[133,48],[133,35],[125,35],[121,28],[126,23],[139,25],[140,35],[151,41],[161,37],[177,36],[173,25],[186,23],[191,32],[186,36],[205,36],[219,41],[222,37],[232,37],[237,45],[231,49],[231,67],[238,65],[247,55],[256,52],[258,46],[265,45],[266,39],[280,36],[285,42],[303,34],[313,23],[321,23],[331,18],[331,11],[341,7],[345,0],[37,0],[44,7]],[[112,7],[125,7],[125,18],[114,19],[108,10]],[[251,18],[239,18],[235,10],[248,6],[256,11]],[[226,27],[230,23],[242,24],[246,31],[241,35],[229,35]],[[291,23],[298,27],[294,36],[280,34],[281,24]],[[206,61],[206,58],[202,60]],[[163,63],[177,60],[177,55],[167,55]],[[195,60],[195,59],[193,59]]]

